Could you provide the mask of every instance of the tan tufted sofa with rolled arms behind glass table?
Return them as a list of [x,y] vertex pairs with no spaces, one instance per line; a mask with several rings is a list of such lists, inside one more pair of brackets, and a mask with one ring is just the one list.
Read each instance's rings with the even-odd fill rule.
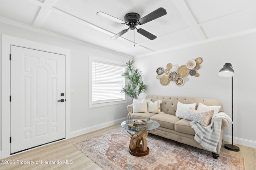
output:
[[[164,113],[132,113],[132,104],[127,106],[128,115],[127,119],[152,119],[160,124],[158,129],[149,131],[149,133],[172,139],[180,143],[184,143],[193,147],[204,149],[198,142],[194,140],[195,131],[189,125],[190,121],[180,119],[175,116],[177,109],[177,103],[181,102],[183,104],[196,103],[196,108],[201,102],[207,106],[221,106],[219,112],[223,112],[222,103],[216,99],[210,98],[186,98],[186,97],[170,97],[170,96],[146,96],[146,98],[151,98],[152,102],[157,100],[162,100],[160,104],[160,111]],[[222,128],[220,134],[220,140],[217,146],[217,152],[212,152],[212,156],[218,159],[220,156],[220,148],[222,145],[224,129],[228,127],[228,121],[222,118]],[[206,149],[204,149],[206,150]]]

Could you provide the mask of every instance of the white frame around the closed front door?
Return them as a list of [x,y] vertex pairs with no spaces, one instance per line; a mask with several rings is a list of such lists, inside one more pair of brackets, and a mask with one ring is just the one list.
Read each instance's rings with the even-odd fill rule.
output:
[[70,138],[70,49],[2,35],[2,158],[10,156],[10,45],[65,56],[65,138]]

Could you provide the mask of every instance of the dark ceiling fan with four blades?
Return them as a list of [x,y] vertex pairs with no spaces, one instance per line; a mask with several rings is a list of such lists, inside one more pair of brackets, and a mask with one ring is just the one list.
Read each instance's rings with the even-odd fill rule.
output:
[[102,16],[104,18],[107,18],[109,20],[112,21],[116,21],[118,23],[121,24],[125,24],[128,25],[129,28],[128,29],[124,29],[121,32],[119,32],[118,34],[114,35],[113,37],[111,37],[110,39],[117,39],[118,37],[122,36],[124,33],[126,33],[129,29],[134,30],[136,29],[138,33],[140,33],[141,35],[144,35],[145,37],[147,37],[150,40],[156,39],[156,35],[153,35],[152,33],[149,33],[148,31],[142,29],[142,28],[136,28],[137,25],[142,25],[144,23],[147,23],[149,21],[155,20],[161,16],[164,16],[167,14],[166,10],[162,7],[158,8],[157,10],[154,10],[153,12],[151,12],[150,14],[140,18],[140,15],[134,12],[128,13],[124,16],[124,21],[120,20],[118,18],[115,18],[113,16],[110,16],[104,12],[97,12],[96,13],[98,16]]

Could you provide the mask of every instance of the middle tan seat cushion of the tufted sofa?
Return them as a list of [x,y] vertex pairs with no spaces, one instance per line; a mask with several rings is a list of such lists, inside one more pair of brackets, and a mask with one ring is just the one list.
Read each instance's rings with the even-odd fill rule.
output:
[[150,120],[157,121],[160,124],[160,127],[174,130],[174,123],[179,121],[180,118],[166,113],[158,113],[150,117]]

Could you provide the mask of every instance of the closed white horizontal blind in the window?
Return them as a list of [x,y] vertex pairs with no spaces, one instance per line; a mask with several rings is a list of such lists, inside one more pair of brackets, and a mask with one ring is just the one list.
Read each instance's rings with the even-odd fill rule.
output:
[[125,100],[120,93],[125,85],[124,70],[121,65],[92,61],[92,104]]

